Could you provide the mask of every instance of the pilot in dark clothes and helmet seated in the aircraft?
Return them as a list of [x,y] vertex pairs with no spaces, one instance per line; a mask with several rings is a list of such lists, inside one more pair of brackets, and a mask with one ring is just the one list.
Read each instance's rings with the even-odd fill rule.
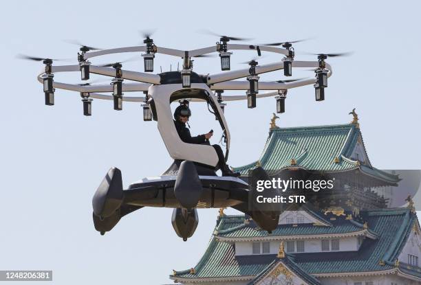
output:
[[[174,124],[175,128],[177,129],[177,133],[180,136],[180,139],[187,144],[209,144],[208,139],[212,137],[213,132],[209,132],[204,135],[198,135],[197,137],[191,136],[190,130],[186,128],[186,123],[188,122],[188,118],[190,116],[191,111],[185,104],[177,106],[177,109],[175,109],[174,111]],[[215,151],[218,155],[218,166],[219,169],[222,171],[222,176],[240,176],[238,172],[233,172],[232,170],[230,170],[230,168],[226,164],[222,148],[217,144],[214,144],[213,148],[215,148]]]

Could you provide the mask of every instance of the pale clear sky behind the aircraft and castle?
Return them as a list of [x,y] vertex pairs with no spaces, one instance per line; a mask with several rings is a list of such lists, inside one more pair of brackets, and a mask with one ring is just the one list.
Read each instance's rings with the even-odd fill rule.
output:
[[[102,48],[131,46],[141,43],[142,29],[156,29],[155,43],[176,49],[213,45],[218,38],[197,33],[204,28],[254,38],[248,43],[257,44],[312,38],[295,45],[296,60],[315,59],[300,52],[354,54],[328,60],[334,73],[325,102],[314,101],[311,86],[291,90],[277,124],[345,124],[356,108],[374,166],[420,169],[420,8],[419,1],[4,2],[0,270],[53,270],[54,281],[48,284],[171,284],[172,269],[198,262],[217,218],[217,209],[200,209],[195,235],[183,242],[171,227],[172,209],[145,208],[100,236],[91,220],[91,197],[107,170],[120,168],[127,187],[171,164],[156,122],[143,122],[139,104],[127,103],[118,112],[111,102],[98,100],[92,117],[84,117],[78,93],[69,91],[56,91],[56,105],[45,106],[36,81],[43,65],[19,60],[17,54],[75,58],[78,47],[63,40]],[[232,69],[254,57],[253,52],[234,52]],[[278,60],[281,56],[268,54],[259,62]],[[177,62],[158,55],[155,71],[174,69]],[[142,71],[143,62],[125,68]],[[220,72],[219,58],[197,59],[195,71]],[[296,78],[313,75],[293,73]],[[78,78],[78,73],[55,77],[63,82]],[[282,71],[262,76],[282,78]],[[215,121],[201,110],[205,106],[193,106],[192,133],[214,128],[217,143]],[[259,158],[274,110],[273,98],[259,100],[252,110],[246,102],[228,103],[230,165]]]

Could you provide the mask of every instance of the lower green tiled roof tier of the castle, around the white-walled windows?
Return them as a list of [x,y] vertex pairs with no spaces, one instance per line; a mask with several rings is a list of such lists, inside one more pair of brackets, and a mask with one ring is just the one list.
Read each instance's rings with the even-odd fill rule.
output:
[[[419,227],[415,213],[409,208],[389,208],[361,211],[360,215],[367,221],[369,231],[376,235],[376,238],[366,238],[358,251],[288,253],[285,256],[288,260],[283,260],[283,263],[288,269],[298,272],[297,274],[311,275],[312,277],[332,277],[336,274],[352,275],[353,273],[358,275],[400,273],[421,278],[420,267],[396,263],[412,227],[414,225]],[[175,271],[175,274],[170,276],[171,279],[178,282],[228,282],[235,280],[250,280],[252,282],[264,272],[268,272],[279,260],[277,255],[235,255],[233,242],[218,240],[220,235],[226,235],[228,232],[243,234],[243,229],[250,231],[250,233],[247,231],[246,234],[268,235],[266,231],[251,229],[252,223],[242,226],[245,218],[243,215],[219,217],[214,236],[210,240],[206,252],[194,267],[193,273],[190,270]],[[332,223],[332,227],[313,226],[313,230],[288,227],[285,231],[292,236],[299,236],[304,230],[307,233],[314,233],[314,231],[321,231],[321,228],[327,228],[330,231],[339,229],[342,232],[360,229],[356,222],[354,222],[355,224],[344,223],[345,228],[340,225],[341,223]],[[284,231],[281,229],[282,227],[285,225],[280,225],[274,231],[278,231],[275,234]],[[261,233],[257,233],[258,231]],[[283,233],[281,234],[283,235]]]

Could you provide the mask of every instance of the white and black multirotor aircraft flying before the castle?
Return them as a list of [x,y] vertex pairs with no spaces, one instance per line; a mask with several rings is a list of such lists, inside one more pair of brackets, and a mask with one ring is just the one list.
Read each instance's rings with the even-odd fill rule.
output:
[[[266,172],[257,168],[246,183],[237,177],[217,176],[218,157],[215,149],[209,145],[187,144],[177,134],[171,113],[171,102],[188,100],[206,102],[219,121],[225,141],[225,160],[230,149],[230,132],[224,117],[224,102],[247,100],[248,108],[255,108],[257,98],[274,97],[277,101],[277,113],[285,111],[285,98],[288,89],[314,84],[316,101],[324,100],[327,78],[332,75],[332,68],[325,59],[341,54],[318,54],[316,61],[294,60],[292,43],[272,43],[268,45],[230,44],[241,40],[221,36],[216,45],[194,50],[178,50],[159,47],[147,36],[143,46],[120,47],[116,49],[96,50],[83,45],[78,53],[77,65],[53,65],[49,58],[30,58],[42,60],[45,69],[38,80],[43,83],[45,104],[54,105],[54,91],[65,89],[80,93],[84,115],[91,115],[93,99],[113,100],[114,109],[122,110],[122,102],[142,103],[144,120],[158,122],[158,130],[173,164],[163,174],[147,177],[129,185],[123,190],[122,175],[118,168],[111,168],[100,183],[93,197],[93,218],[97,231],[104,234],[110,231],[122,218],[142,207],[174,208],[172,224],[178,236],[187,240],[197,227],[197,208],[233,207],[250,215],[261,228],[272,231],[277,227],[279,212],[259,209],[259,205],[250,207],[250,193],[253,181],[267,179]],[[282,45],[277,47],[277,45]],[[251,50],[261,56],[261,52],[282,54],[279,62],[259,65],[256,60],[248,62],[249,68],[230,71],[230,56],[233,50]],[[217,52],[221,60],[222,73],[201,75],[193,71],[192,58]],[[94,65],[89,60],[98,56],[120,53],[143,53],[144,72],[122,69],[121,62],[113,65]],[[181,71],[154,74],[153,59],[157,54],[166,54],[182,58]],[[279,80],[261,82],[259,74],[283,69],[284,76],[292,76],[293,67],[314,68],[315,78],[301,80]],[[82,80],[89,80],[89,74],[111,77],[111,84],[67,84],[54,81],[54,73],[79,71]],[[246,78],[244,81],[236,79]],[[124,80],[134,82],[126,83]],[[246,95],[222,95],[224,90],[245,90]],[[259,93],[268,90],[267,93]],[[143,97],[123,95],[123,92],[140,91]],[[112,93],[107,95],[104,93]],[[185,103],[184,103],[185,104]],[[276,195],[281,193],[271,193]]]

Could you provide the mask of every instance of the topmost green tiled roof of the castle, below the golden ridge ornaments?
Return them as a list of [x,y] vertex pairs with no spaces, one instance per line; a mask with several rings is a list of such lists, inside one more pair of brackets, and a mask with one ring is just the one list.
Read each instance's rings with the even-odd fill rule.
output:
[[398,176],[372,168],[369,161],[366,166],[360,166],[358,161],[350,158],[359,137],[362,140],[360,129],[354,124],[274,128],[270,130],[259,160],[234,170],[244,176],[257,166],[265,170],[281,170],[292,166],[294,159],[294,167],[330,172],[359,168],[378,179],[396,183]]

